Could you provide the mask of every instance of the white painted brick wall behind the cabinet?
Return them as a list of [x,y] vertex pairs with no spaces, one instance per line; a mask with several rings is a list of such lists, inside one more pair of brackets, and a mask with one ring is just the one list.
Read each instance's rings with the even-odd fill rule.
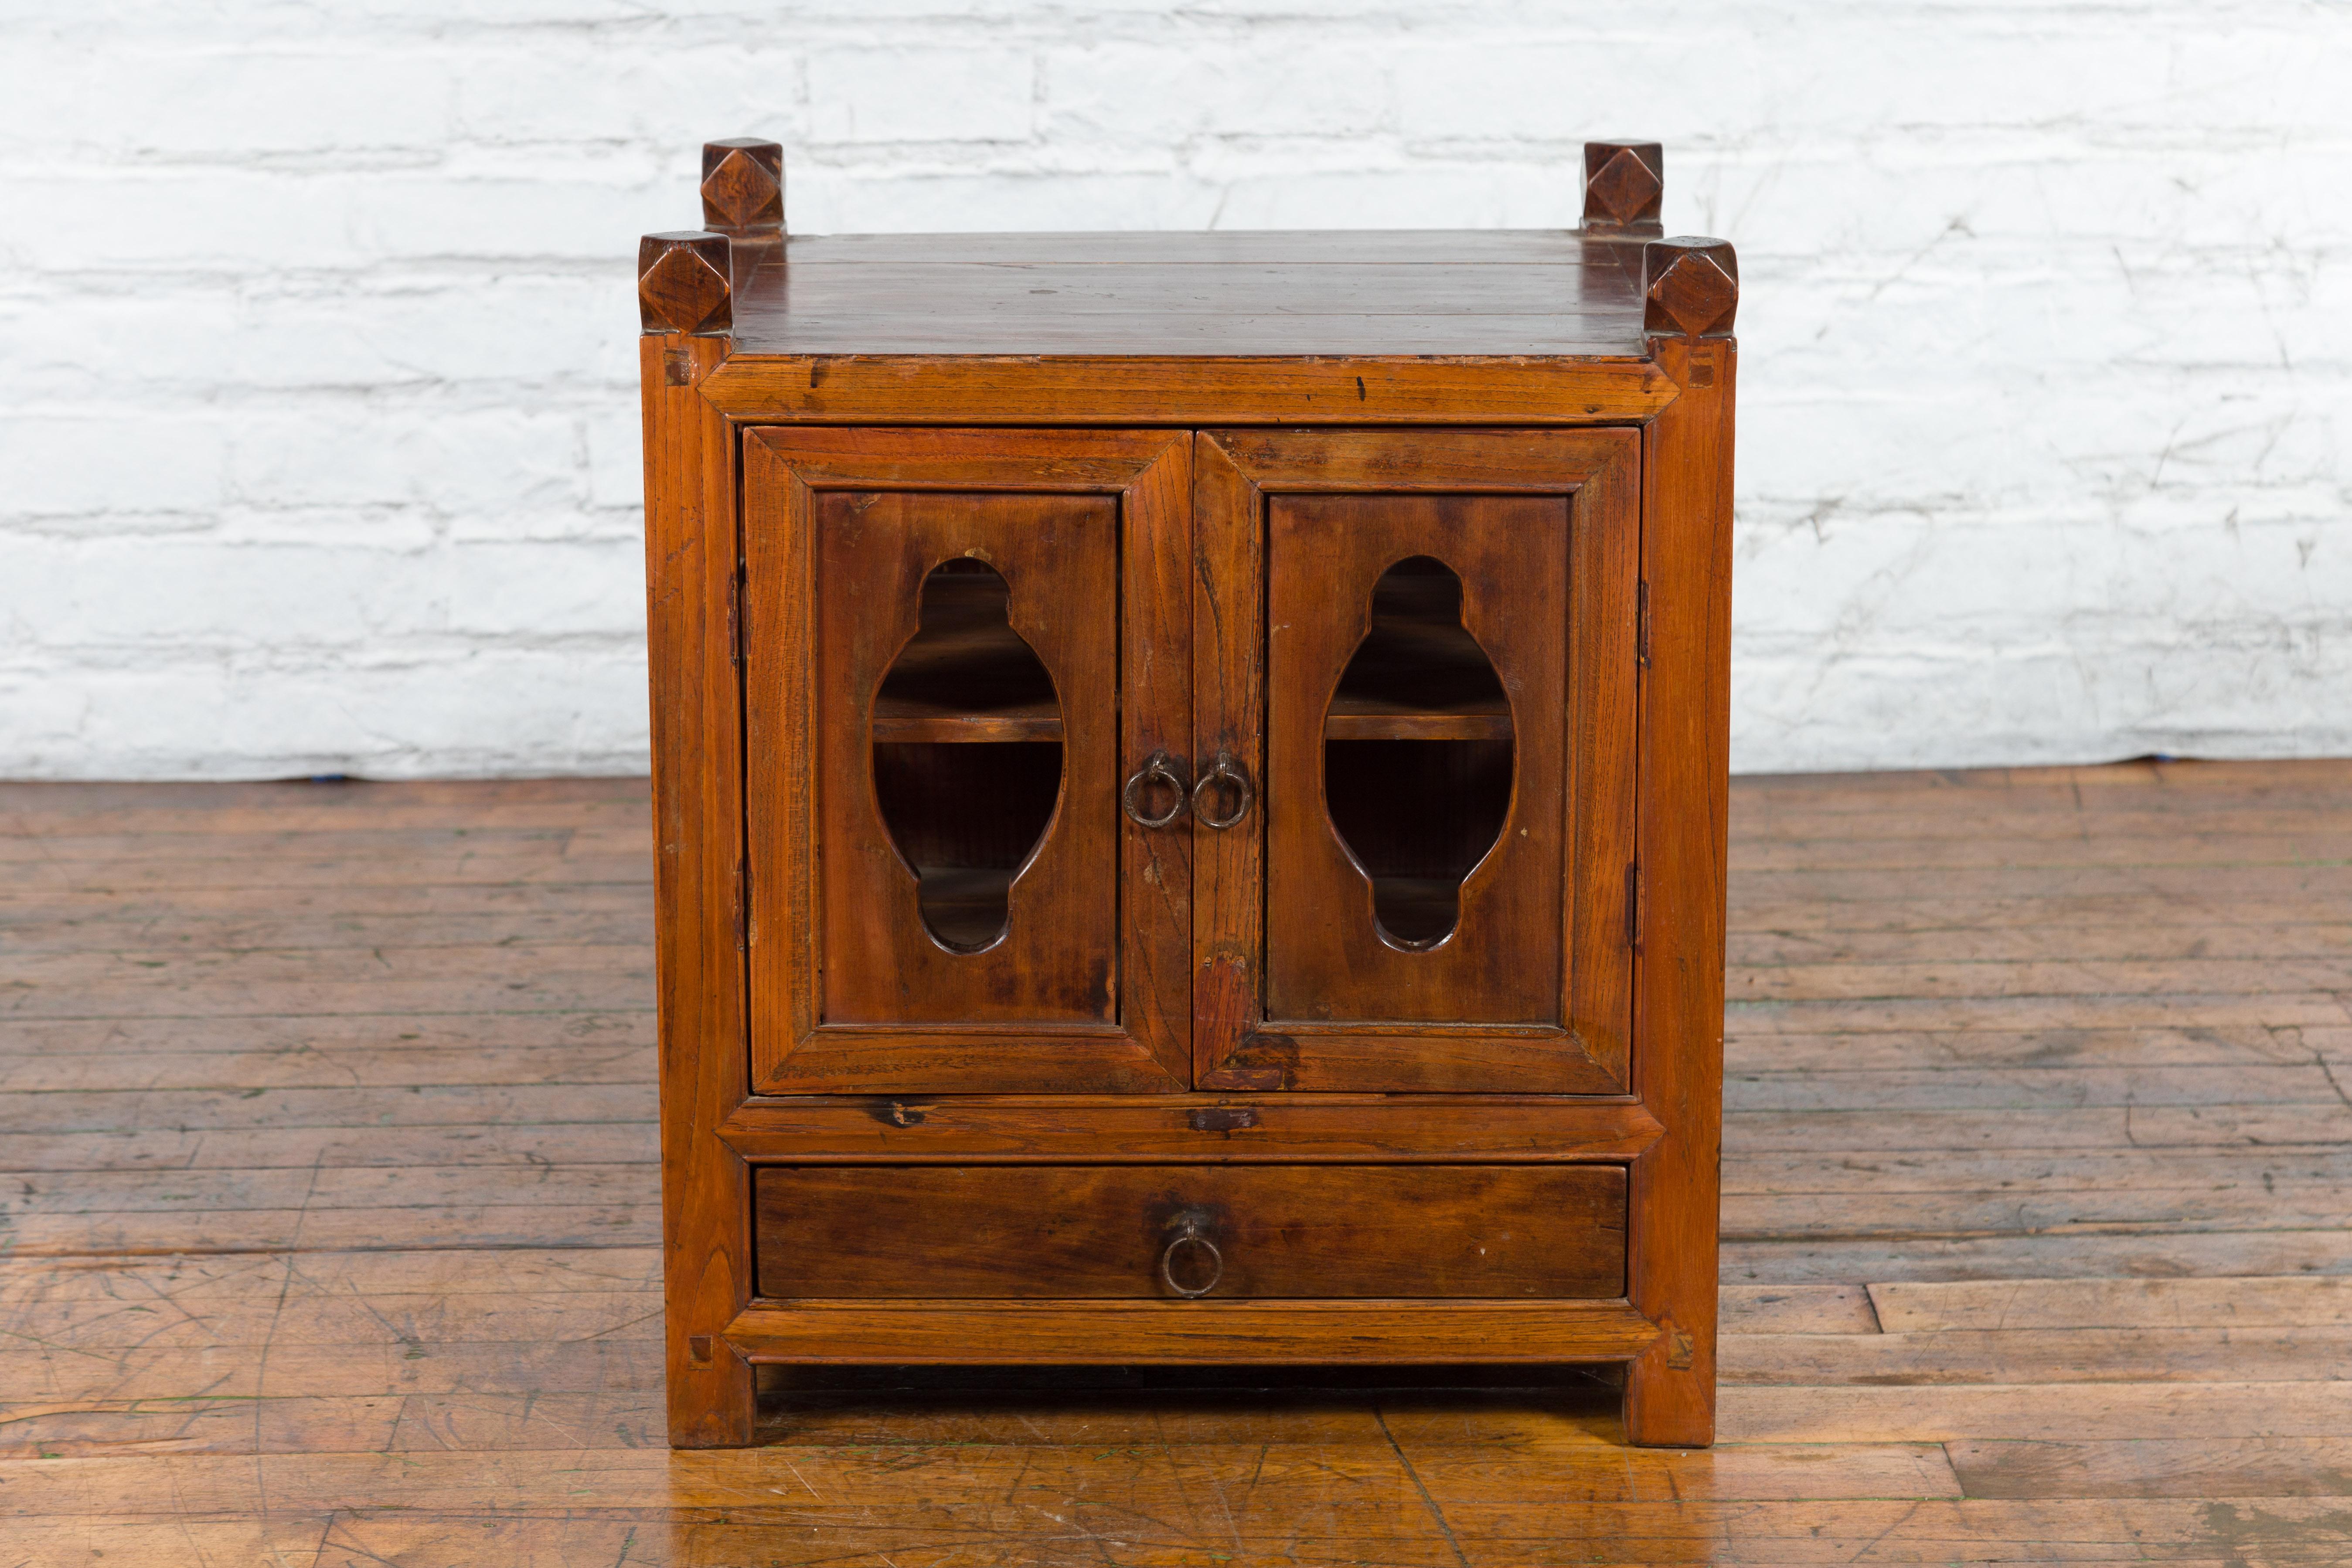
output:
[[2352,750],[2340,0],[0,0],[0,776],[644,766],[635,237],[1740,247],[1736,762]]

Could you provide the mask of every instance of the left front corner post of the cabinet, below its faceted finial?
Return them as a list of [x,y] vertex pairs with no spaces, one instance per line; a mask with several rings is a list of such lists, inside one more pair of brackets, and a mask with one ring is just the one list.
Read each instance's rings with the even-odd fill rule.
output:
[[644,590],[654,719],[661,1239],[670,1441],[748,1443],[750,1366],[722,1331],[750,1300],[748,1180],[720,1124],[746,1095],[741,722],[729,602],[736,480],[696,383],[720,339],[640,339]]

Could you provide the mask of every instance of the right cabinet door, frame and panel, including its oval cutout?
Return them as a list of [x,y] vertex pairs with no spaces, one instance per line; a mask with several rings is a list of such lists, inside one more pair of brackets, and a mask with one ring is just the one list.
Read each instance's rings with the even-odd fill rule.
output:
[[1637,473],[1632,430],[1200,435],[1202,1088],[1625,1093]]

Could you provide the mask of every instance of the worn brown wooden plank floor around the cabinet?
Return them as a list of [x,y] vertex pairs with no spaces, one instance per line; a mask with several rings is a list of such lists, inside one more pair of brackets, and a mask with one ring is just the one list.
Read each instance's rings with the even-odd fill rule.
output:
[[0,1568],[2352,1559],[2352,764],[1733,830],[1717,1450],[884,1373],[673,1455],[642,783],[0,788]]

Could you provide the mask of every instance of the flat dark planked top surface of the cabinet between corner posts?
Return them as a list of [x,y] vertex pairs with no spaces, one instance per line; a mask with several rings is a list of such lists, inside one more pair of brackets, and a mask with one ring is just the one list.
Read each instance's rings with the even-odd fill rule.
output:
[[1639,360],[1642,240],[795,235],[739,256],[734,353]]

